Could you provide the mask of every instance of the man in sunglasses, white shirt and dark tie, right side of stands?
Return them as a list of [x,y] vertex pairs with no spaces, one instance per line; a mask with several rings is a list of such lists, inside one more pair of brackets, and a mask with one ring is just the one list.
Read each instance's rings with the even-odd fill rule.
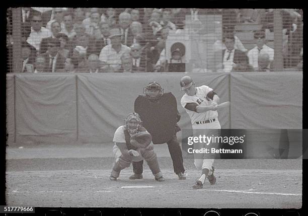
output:
[[[247,55],[249,58],[249,64],[251,64],[255,70],[258,70],[258,56],[262,50],[269,55],[270,62],[274,60],[274,49],[265,44],[265,31],[256,31],[254,37],[257,40],[257,46],[249,50]],[[270,67],[270,65],[267,65]]]

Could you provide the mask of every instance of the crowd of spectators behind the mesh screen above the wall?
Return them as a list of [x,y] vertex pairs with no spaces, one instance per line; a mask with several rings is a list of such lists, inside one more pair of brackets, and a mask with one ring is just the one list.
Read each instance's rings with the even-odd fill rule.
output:
[[[20,8],[21,72],[185,71],[183,49],[171,50],[167,61],[168,35],[186,28],[186,15],[199,30],[200,16],[211,14],[222,15],[222,38],[212,45],[221,59],[216,71],[273,70],[274,47],[267,45],[266,34],[274,31],[274,9]],[[8,72],[17,42],[13,16],[8,10]],[[282,9],[281,17],[284,67],[302,69],[302,11]],[[241,24],[262,24],[251,49],[235,34]]]

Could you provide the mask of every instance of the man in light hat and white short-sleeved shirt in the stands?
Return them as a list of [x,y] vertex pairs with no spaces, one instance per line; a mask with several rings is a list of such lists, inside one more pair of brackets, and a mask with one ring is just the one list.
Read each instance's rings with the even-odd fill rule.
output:
[[129,52],[130,48],[121,44],[121,31],[119,28],[110,29],[109,38],[111,44],[105,46],[99,55],[100,61],[104,64],[103,70],[117,71],[121,67],[121,55]]

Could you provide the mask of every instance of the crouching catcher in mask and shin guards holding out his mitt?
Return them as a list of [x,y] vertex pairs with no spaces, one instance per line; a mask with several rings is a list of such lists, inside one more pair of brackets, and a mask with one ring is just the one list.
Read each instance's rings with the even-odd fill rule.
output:
[[124,125],[118,127],[114,133],[113,154],[115,165],[112,168],[110,180],[117,180],[121,170],[129,167],[132,161],[145,159],[147,165],[157,181],[165,181],[160,170],[156,153],[153,151],[152,137],[141,126],[137,113],[130,113],[124,120]]

